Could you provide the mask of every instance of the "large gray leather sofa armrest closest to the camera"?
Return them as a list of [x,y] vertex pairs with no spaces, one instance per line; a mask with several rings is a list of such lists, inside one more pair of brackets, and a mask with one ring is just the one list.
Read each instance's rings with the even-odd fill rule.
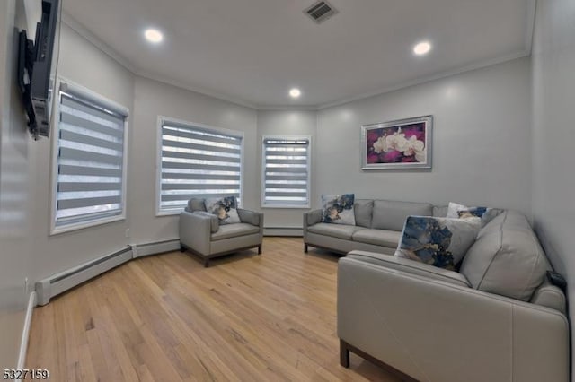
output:
[[338,265],[338,335],[421,381],[569,380],[556,310],[351,257]]

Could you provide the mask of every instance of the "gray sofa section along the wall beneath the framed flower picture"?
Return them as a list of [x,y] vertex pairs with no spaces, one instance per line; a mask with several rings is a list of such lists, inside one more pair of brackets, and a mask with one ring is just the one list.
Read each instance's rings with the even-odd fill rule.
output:
[[447,206],[392,200],[356,199],[356,225],[322,222],[322,210],[304,213],[304,251],[320,247],[347,254],[354,249],[393,255],[403,222],[410,215],[443,216]]

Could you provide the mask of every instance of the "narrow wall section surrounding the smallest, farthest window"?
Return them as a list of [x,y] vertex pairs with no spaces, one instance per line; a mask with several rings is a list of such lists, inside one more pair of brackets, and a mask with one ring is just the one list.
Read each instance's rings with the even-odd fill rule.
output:
[[[314,192],[315,178],[315,127],[317,113],[314,110],[260,110],[258,111],[258,159],[261,168],[261,137],[263,135],[311,135],[312,168],[311,192]],[[258,174],[261,205],[261,171]],[[312,194],[313,195],[313,194]],[[302,227],[303,213],[309,208],[261,208],[266,227]]]

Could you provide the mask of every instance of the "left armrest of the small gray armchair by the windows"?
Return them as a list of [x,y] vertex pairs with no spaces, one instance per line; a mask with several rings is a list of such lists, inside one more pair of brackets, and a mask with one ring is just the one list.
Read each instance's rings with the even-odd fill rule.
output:
[[211,238],[211,216],[200,213],[180,213],[180,242],[186,247],[209,255]]

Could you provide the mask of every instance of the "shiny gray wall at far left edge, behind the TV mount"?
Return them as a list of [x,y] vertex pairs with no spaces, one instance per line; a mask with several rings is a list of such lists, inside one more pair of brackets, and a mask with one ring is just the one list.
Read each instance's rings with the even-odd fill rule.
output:
[[22,1],[0,2],[0,369],[18,360],[31,274],[29,164],[35,148],[16,86],[14,27],[25,27]]

